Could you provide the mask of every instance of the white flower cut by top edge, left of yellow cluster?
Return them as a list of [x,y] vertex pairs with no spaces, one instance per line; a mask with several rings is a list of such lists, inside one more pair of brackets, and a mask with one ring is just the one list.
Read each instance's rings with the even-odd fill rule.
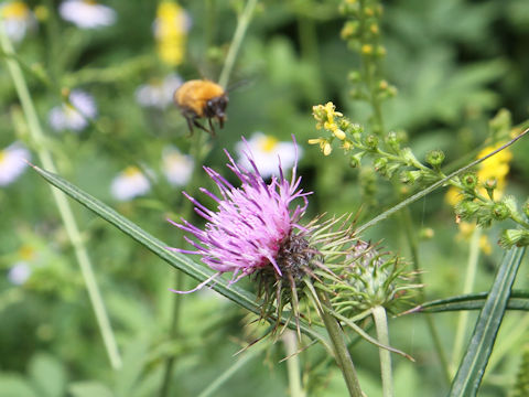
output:
[[116,22],[116,11],[93,0],[66,0],[58,7],[63,19],[80,29],[109,26]]

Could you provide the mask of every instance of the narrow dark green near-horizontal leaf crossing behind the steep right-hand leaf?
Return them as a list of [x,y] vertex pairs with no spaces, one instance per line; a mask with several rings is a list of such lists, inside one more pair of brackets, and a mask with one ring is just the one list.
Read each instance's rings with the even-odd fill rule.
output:
[[[488,292],[468,293],[452,298],[438,299],[422,303],[406,313],[440,313],[445,311],[481,310],[487,300]],[[507,310],[529,311],[529,291],[511,291]]]

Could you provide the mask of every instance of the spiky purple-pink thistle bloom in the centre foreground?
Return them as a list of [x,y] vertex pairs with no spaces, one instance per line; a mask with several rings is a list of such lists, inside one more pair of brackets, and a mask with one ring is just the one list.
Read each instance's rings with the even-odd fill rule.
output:
[[[292,139],[295,144],[294,137]],[[224,272],[233,272],[230,282],[236,282],[241,277],[268,267],[272,267],[274,272],[282,277],[282,266],[277,260],[278,254],[281,253],[283,245],[291,240],[294,229],[302,234],[306,232],[298,222],[306,210],[309,203],[306,195],[311,192],[303,193],[303,190],[299,189],[301,176],[295,175],[298,152],[291,181],[284,178],[279,159],[279,178],[272,176],[267,184],[256,167],[247,141],[244,138],[242,140],[247,148],[245,155],[251,164],[250,170],[237,165],[225,150],[229,160],[227,167],[240,180],[240,187],[235,187],[219,173],[204,167],[206,173],[217,184],[220,197],[203,187],[201,192],[217,202],[216,212],[206,208],[184,192],[184,195],[195,205],[195,212],[207,221],[204,230],[185,219],[182,219],[182,224],[170,221],[196,238],[193,240],[184,236],[196,250],[170,249],[183,254],[202,255],[202,260],[217,271],[191,291],[173,292],[196,291]],[[296,205],[291,210],[291,203],[300,197],[303,200],[303,205]]]

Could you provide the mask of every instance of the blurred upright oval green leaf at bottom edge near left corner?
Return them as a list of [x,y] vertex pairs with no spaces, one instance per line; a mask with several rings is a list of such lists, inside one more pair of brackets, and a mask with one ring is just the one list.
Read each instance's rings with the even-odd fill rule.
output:
[[61,397],[66,387],[63,364],[50,354],[37,353],[30,362],[29,374],[43,397]]

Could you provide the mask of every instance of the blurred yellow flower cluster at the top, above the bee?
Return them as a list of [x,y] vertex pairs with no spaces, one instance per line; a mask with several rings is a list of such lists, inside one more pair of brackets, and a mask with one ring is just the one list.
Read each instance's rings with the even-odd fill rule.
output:
[[154,36],[160,58],[168,65],[180,65],[185,52],[187,17],[176,2],[162,1],[158,6]]

